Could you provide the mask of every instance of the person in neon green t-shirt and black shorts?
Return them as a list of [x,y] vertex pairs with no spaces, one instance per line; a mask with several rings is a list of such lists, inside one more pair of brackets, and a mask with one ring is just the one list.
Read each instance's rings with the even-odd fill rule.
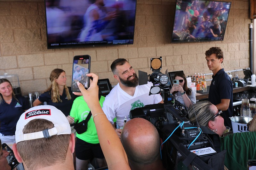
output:
[[[100,106],[105,100],[105,97],[100,96]],[[90,108],[84,101],[83,96],[77,97],[72,105],[70,116],[74,121],[79,123],[86,119],[90,112]],[[103,152],[100,147],[97,130],[93,122],[93,117],[87,123],[87,130],[82,134],[76,134],[76,169],[87,170],[87,166],[92,155],[96,158],[99,167],[107,166]]]

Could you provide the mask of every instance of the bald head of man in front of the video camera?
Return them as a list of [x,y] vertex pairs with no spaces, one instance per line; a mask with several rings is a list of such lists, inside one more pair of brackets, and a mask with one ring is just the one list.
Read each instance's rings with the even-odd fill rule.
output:
[[142,118],[128,121],[121,134],[121,142],[129,163],[150,164],[160,159],[160,137],[152,123]]

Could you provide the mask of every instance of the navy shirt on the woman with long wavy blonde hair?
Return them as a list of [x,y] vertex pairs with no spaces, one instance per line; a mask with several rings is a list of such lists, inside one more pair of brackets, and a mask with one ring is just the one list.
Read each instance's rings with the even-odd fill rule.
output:
[[51,91],[47,91],[47,92],[44,92],[42,93],[38,100],[40,102],[47,102],[47,105],[52,105],[54,107],[56,107],[57,109],[59,109],[62,113],[64,113],[65,116],[68,116],[69,113],[70,113],[70,110],[71,110],[71,107],[72,107],[72,104],[73,104],[73,101],[75,100],[76,98],[76,95],[74,95],[71,91],[71,87],[68,87],[68,91],[69,91],[69,94],[71,96],[71,100],[68,100],[67,98],[67,95],[66,95],[66,91],[65,91],[65,88],[63,90],[63,93],[62,95],[60,96],[60,99],[62,100],[62,102],[57,102],[57,103],[53,103],[52,102],[52,94],[51,94]]

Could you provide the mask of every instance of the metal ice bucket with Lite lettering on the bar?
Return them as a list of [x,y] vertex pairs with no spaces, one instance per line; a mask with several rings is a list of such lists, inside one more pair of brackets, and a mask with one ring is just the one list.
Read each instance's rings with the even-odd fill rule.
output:
[[252,120],[252,117],[247,116],[233,116],[230,117],[233,133],[237,132],[248,132],[249,129],[247,127],[247,123]]

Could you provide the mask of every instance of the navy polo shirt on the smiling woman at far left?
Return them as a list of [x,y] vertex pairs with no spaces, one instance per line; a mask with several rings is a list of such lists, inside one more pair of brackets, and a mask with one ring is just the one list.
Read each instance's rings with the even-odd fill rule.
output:
[[16,124],[20,115],[29,109],[28,99],[23,96],[16,96],[17,100],[12,97],[10,104],[4,100],[0,104],[0,133],[4,135],[15,135]]

